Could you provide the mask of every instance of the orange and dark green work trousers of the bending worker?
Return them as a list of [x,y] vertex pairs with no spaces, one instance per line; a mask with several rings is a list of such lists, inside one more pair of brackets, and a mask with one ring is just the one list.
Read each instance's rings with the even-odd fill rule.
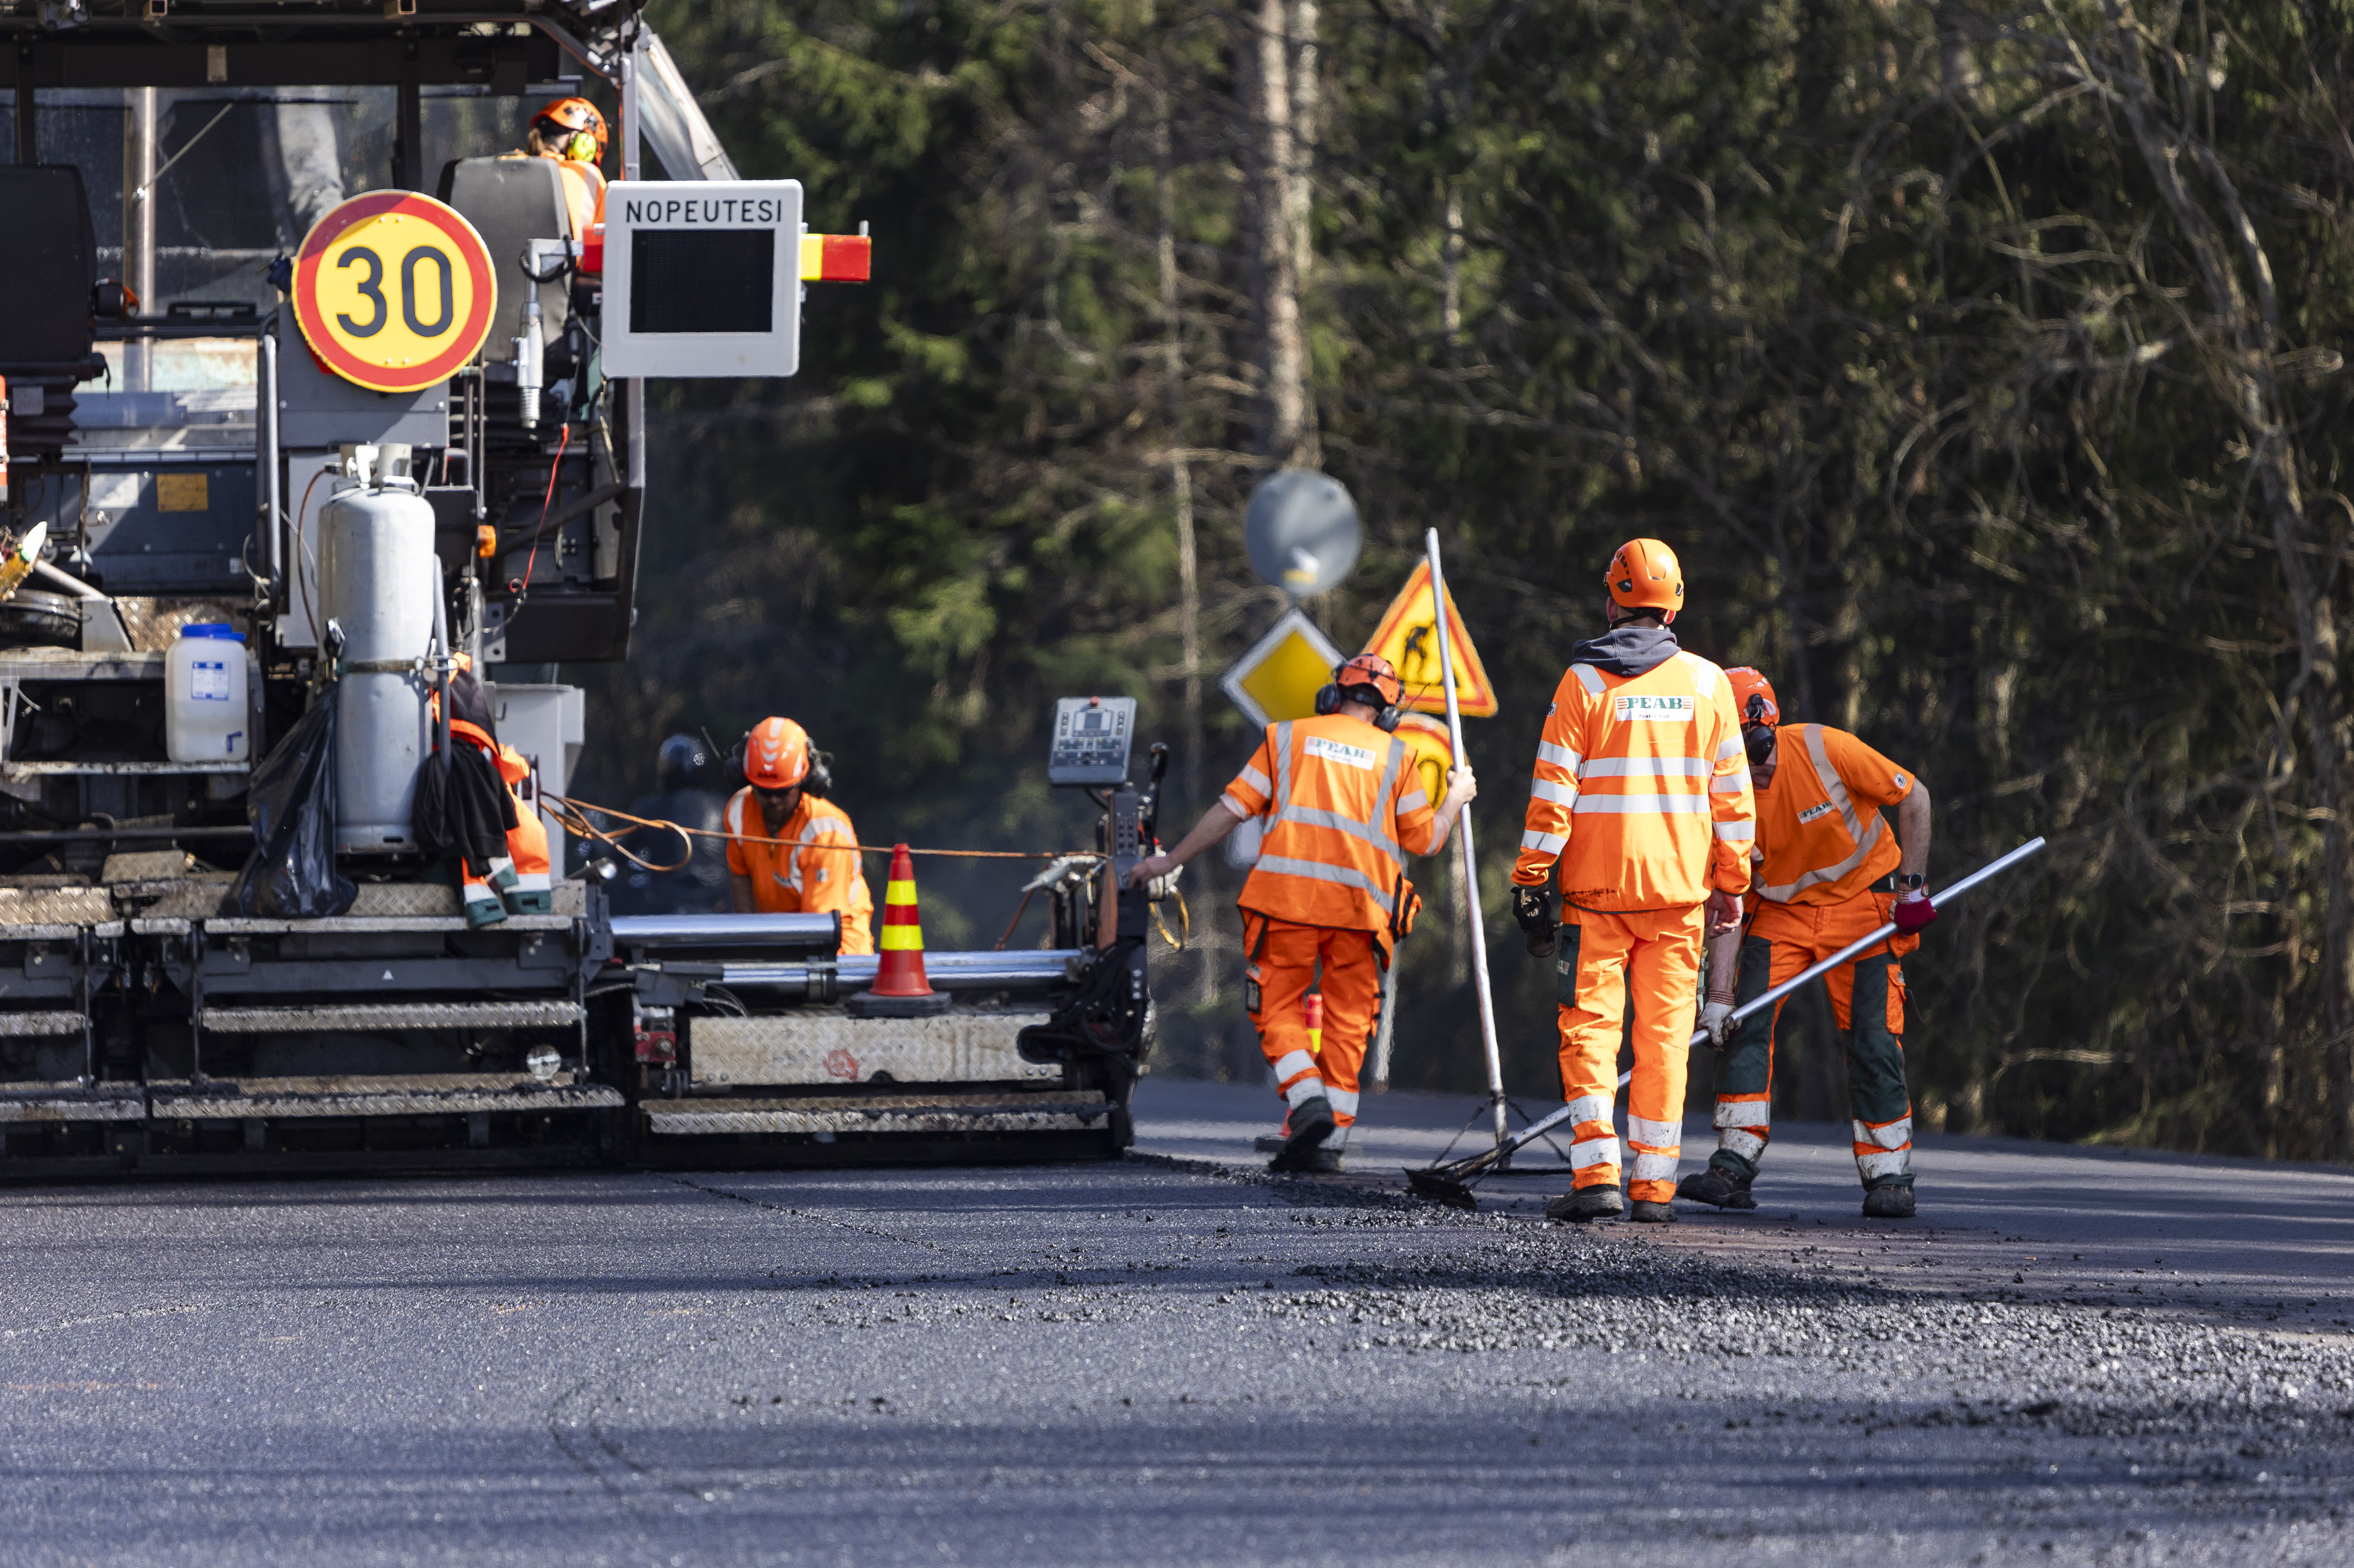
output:
[[[1862,891],[1838,903],[1754,900],[1742,933],[1737,999],[1763,997],[1808,964],[1893,919],[1890,893]],[[1904,971],[1897,959],[1919,936],[1890,936],[1824,976],[1831,1020],[1848,1056],[1848,1112],[1855,1173],[1864,1187],[1911,1185],[1911,1093],[1904,1084]],[[1782,1001],[1733,1030],[1716,1065],[1716,1154],[1709,1164],[1751,1180],[1773,1138],[1773,1037]]]

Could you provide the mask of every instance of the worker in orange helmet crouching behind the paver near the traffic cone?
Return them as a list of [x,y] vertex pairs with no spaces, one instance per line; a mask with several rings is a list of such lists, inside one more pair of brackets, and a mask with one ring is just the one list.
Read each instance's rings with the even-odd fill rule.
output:
[[734,912],[833,912],[843,917],[840,950],[873,952],[876,900],[857,851],[847,849],[859,835],[826,799],[833,778],[810,731],[791,719],[760,719],[744,738],[744,780],[723,813]]

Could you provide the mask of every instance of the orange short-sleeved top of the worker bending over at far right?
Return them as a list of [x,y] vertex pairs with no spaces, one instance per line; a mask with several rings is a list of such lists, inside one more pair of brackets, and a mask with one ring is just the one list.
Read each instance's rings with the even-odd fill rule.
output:
[[1911,773],[1843,729],[1784,724],[1773,783],[1756,792],[1754,889],[1775,903],[1843,903],[1897,867],[1881,806],[1911,795]]

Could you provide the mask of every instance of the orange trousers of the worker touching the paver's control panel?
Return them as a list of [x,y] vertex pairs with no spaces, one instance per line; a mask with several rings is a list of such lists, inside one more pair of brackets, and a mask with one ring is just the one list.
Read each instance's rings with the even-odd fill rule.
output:
[[[1356,1124],[1356,1074],[1382,1011],[1382,933],[1346,926],[1295,926],[1243,910],[1243,952],[1250,954],[1243,1006],[1259,1032],[1259,1048],[1276,1070],[1288,1105],[1323,1095],[1332,1119]],[[1323,961],[1323,1046],[1309,1048],[1302,999]],[[1332,1145],[1339,1147],[1339,1145]]]

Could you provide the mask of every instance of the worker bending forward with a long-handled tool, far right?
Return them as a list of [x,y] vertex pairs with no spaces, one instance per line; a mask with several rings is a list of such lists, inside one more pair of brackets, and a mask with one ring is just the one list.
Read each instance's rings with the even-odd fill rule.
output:
[[[1749,1185],[1773,1124],[1773,1032],[1777,1001],[1744,1018],[1733,1009],[1848,943],[1895,924],[1897,933],[1829,973],[1831,1016],[1848,1053],[1855,1171],[1864,1215],[1914,1213],[1911,1095],[1904,1086],[1904,971],[1937,919],[1928,900],[1928,788],[1843,729],[1782,724],[1773,684],[1730,670],[1742,715],[1758,837],[1749,919],[1709,943],[1709,1004],[1700,1023],[1723,1051],[1716,1067],[1716,1154],[1683,1178],[1678,1197],[1718,1208],[1756,1208]],[[1881,806],[1897,809],[1888,832]]]

